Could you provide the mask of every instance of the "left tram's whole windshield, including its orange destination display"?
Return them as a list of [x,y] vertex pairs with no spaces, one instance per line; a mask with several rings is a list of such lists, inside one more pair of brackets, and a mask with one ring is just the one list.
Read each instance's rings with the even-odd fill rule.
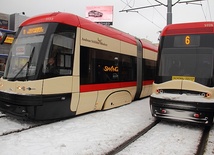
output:
[[19,29],[9,52],[4,79],[25,81],[36,78],[38,59],[47,29],[47,23]]

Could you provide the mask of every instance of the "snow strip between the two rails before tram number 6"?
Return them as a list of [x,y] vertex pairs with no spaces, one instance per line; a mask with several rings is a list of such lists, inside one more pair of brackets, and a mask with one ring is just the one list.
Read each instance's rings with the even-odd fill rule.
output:
[[163,122],[118,155],[194,155],[201,134],[196,126]]

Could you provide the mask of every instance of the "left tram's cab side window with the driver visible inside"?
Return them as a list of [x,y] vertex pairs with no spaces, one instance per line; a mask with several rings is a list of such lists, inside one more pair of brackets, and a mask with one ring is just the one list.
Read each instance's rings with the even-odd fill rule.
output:
[[72,32],[53,35],[48,57],[45,59],[45,73],[48,77],[71,75],[73,67],[74,39]]

